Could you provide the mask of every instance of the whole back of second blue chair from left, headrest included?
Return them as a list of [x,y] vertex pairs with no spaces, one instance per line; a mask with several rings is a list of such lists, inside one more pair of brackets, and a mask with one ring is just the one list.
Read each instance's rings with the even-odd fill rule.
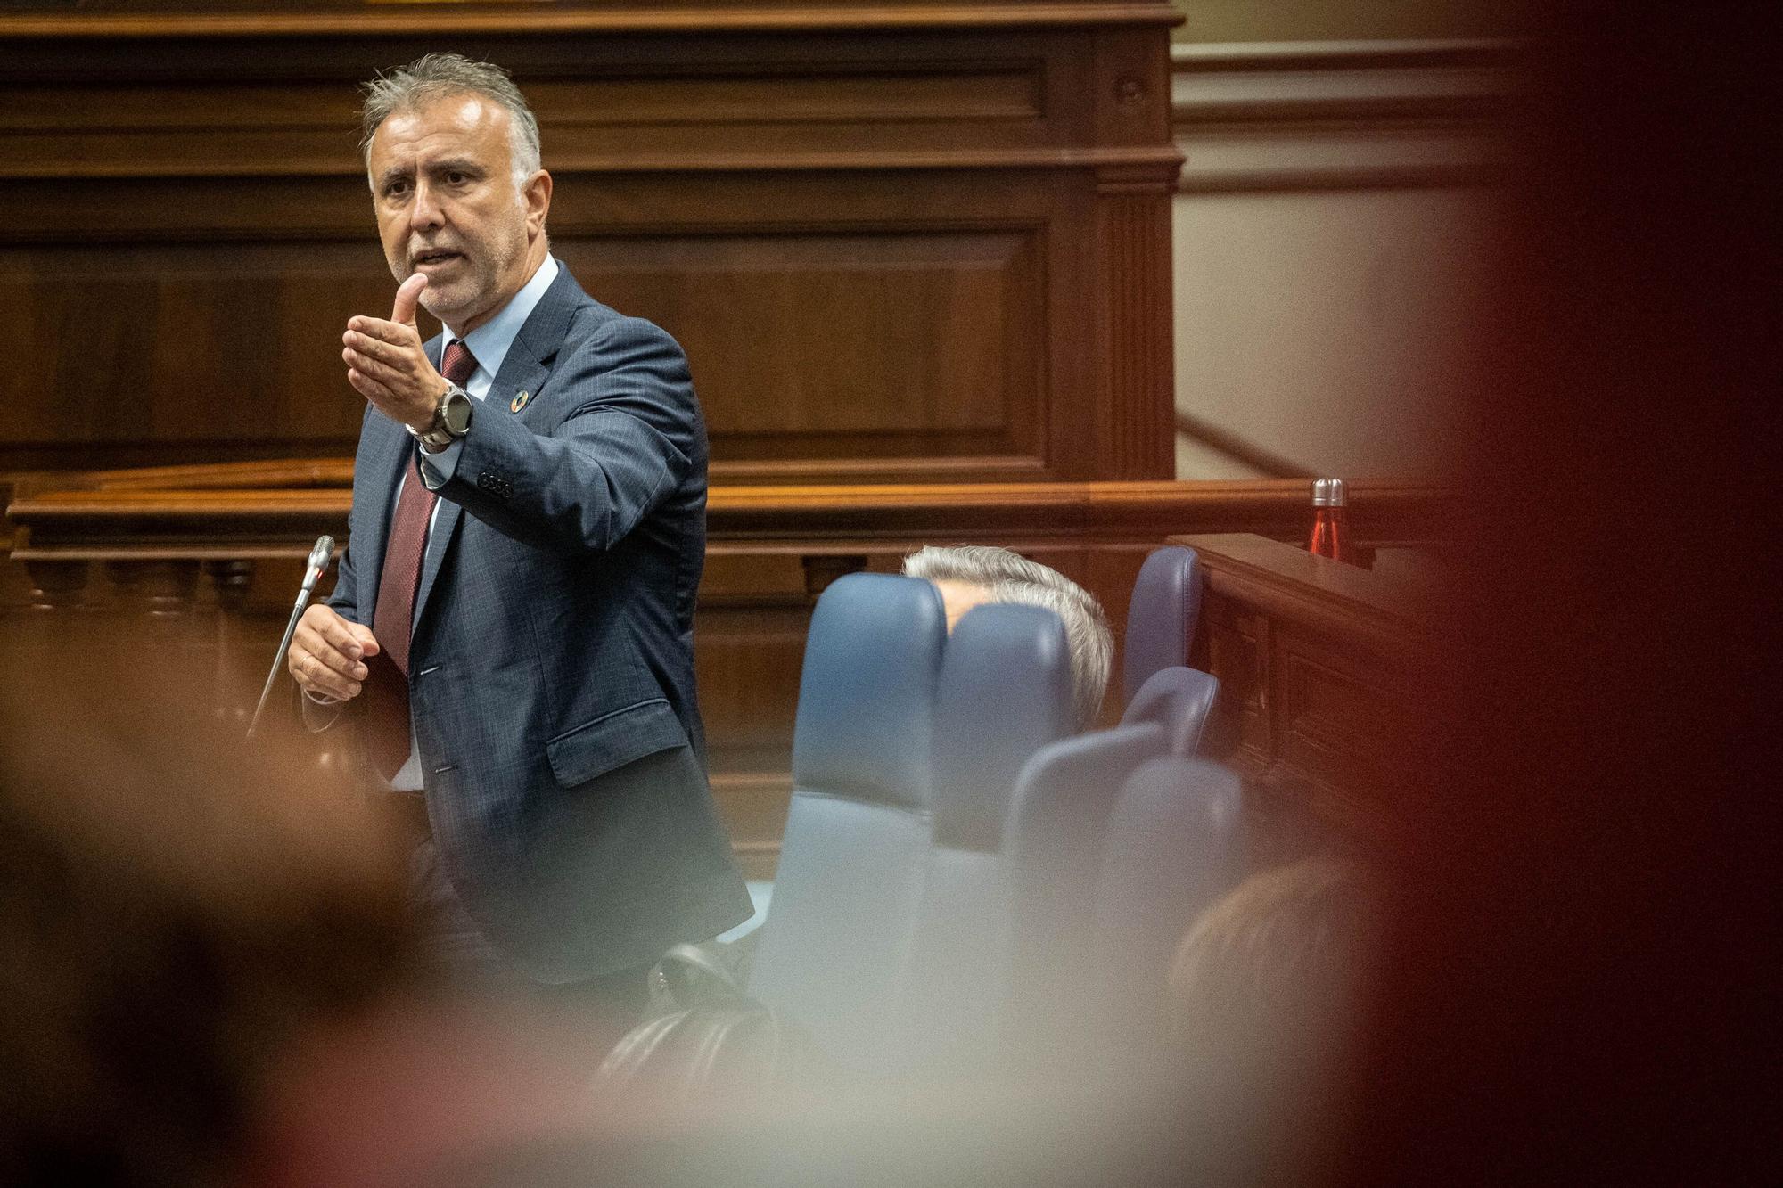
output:
[[947,640],[934,722],[934,831],[892,1072],[984,1068],[1007,999],[1004,817],[1027,760],[1070,735],[1064,624],[1038,606],[979,606]]

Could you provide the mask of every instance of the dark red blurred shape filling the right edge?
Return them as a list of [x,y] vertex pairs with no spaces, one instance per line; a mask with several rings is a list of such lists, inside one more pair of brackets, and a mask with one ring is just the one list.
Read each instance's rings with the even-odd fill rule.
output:
[[1548,5],[1448,765],[1332,1179],[1776,1183],[1769,5]]

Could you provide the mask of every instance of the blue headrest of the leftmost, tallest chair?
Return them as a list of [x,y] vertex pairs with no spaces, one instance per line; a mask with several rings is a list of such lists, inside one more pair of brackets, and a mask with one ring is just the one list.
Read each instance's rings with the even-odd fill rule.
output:
[[884,573],[833,582],[804,642],[793,787],[927,808],[945,640],[947,614],[929,582]]

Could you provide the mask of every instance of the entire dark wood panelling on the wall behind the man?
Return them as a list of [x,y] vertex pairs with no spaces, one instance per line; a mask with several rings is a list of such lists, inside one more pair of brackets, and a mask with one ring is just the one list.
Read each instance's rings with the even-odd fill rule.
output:
[[0,471],[346,451],[357,84],[449,46],[531,96],[585,287],[688,348],[717,478],[1171,473],[1164,4],[173,7],[0,16],[0,348],[46,360]]

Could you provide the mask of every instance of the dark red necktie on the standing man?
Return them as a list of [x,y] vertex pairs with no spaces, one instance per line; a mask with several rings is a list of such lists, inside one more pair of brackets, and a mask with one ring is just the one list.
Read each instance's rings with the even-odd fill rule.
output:
[[[476,359],[464,342],[453,339],[440,360],[440,375],[464,387],[476,371]],[[408,473],[403,476],[390,517],[390,535],[383,546],[378,578],[378,606],[371,615],[371,633],[378,637],[378,655],[366,660],[366,742],[371,762],[389,781],[408,762],[408,637],[414,630],[415,589],[421,562],[428,553],[428,523],[435,496],[421,482],[421,446],[408,448]]]

